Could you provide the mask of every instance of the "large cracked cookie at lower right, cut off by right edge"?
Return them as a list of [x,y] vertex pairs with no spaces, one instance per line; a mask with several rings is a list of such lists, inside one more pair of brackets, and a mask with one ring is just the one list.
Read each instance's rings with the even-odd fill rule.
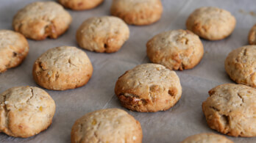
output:
[[256,89],[242,84],[222,84],[209,91],[202,103],[207,124],[229,136],[256,136]]

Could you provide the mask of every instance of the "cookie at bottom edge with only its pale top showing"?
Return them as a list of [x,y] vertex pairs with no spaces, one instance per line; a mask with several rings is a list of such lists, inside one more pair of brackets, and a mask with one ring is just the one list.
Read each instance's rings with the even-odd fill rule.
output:
[[234,143],[225,136],[218,135],[216,133],[199,133],[193,136],[188,136],[184,141],[180,143]]

